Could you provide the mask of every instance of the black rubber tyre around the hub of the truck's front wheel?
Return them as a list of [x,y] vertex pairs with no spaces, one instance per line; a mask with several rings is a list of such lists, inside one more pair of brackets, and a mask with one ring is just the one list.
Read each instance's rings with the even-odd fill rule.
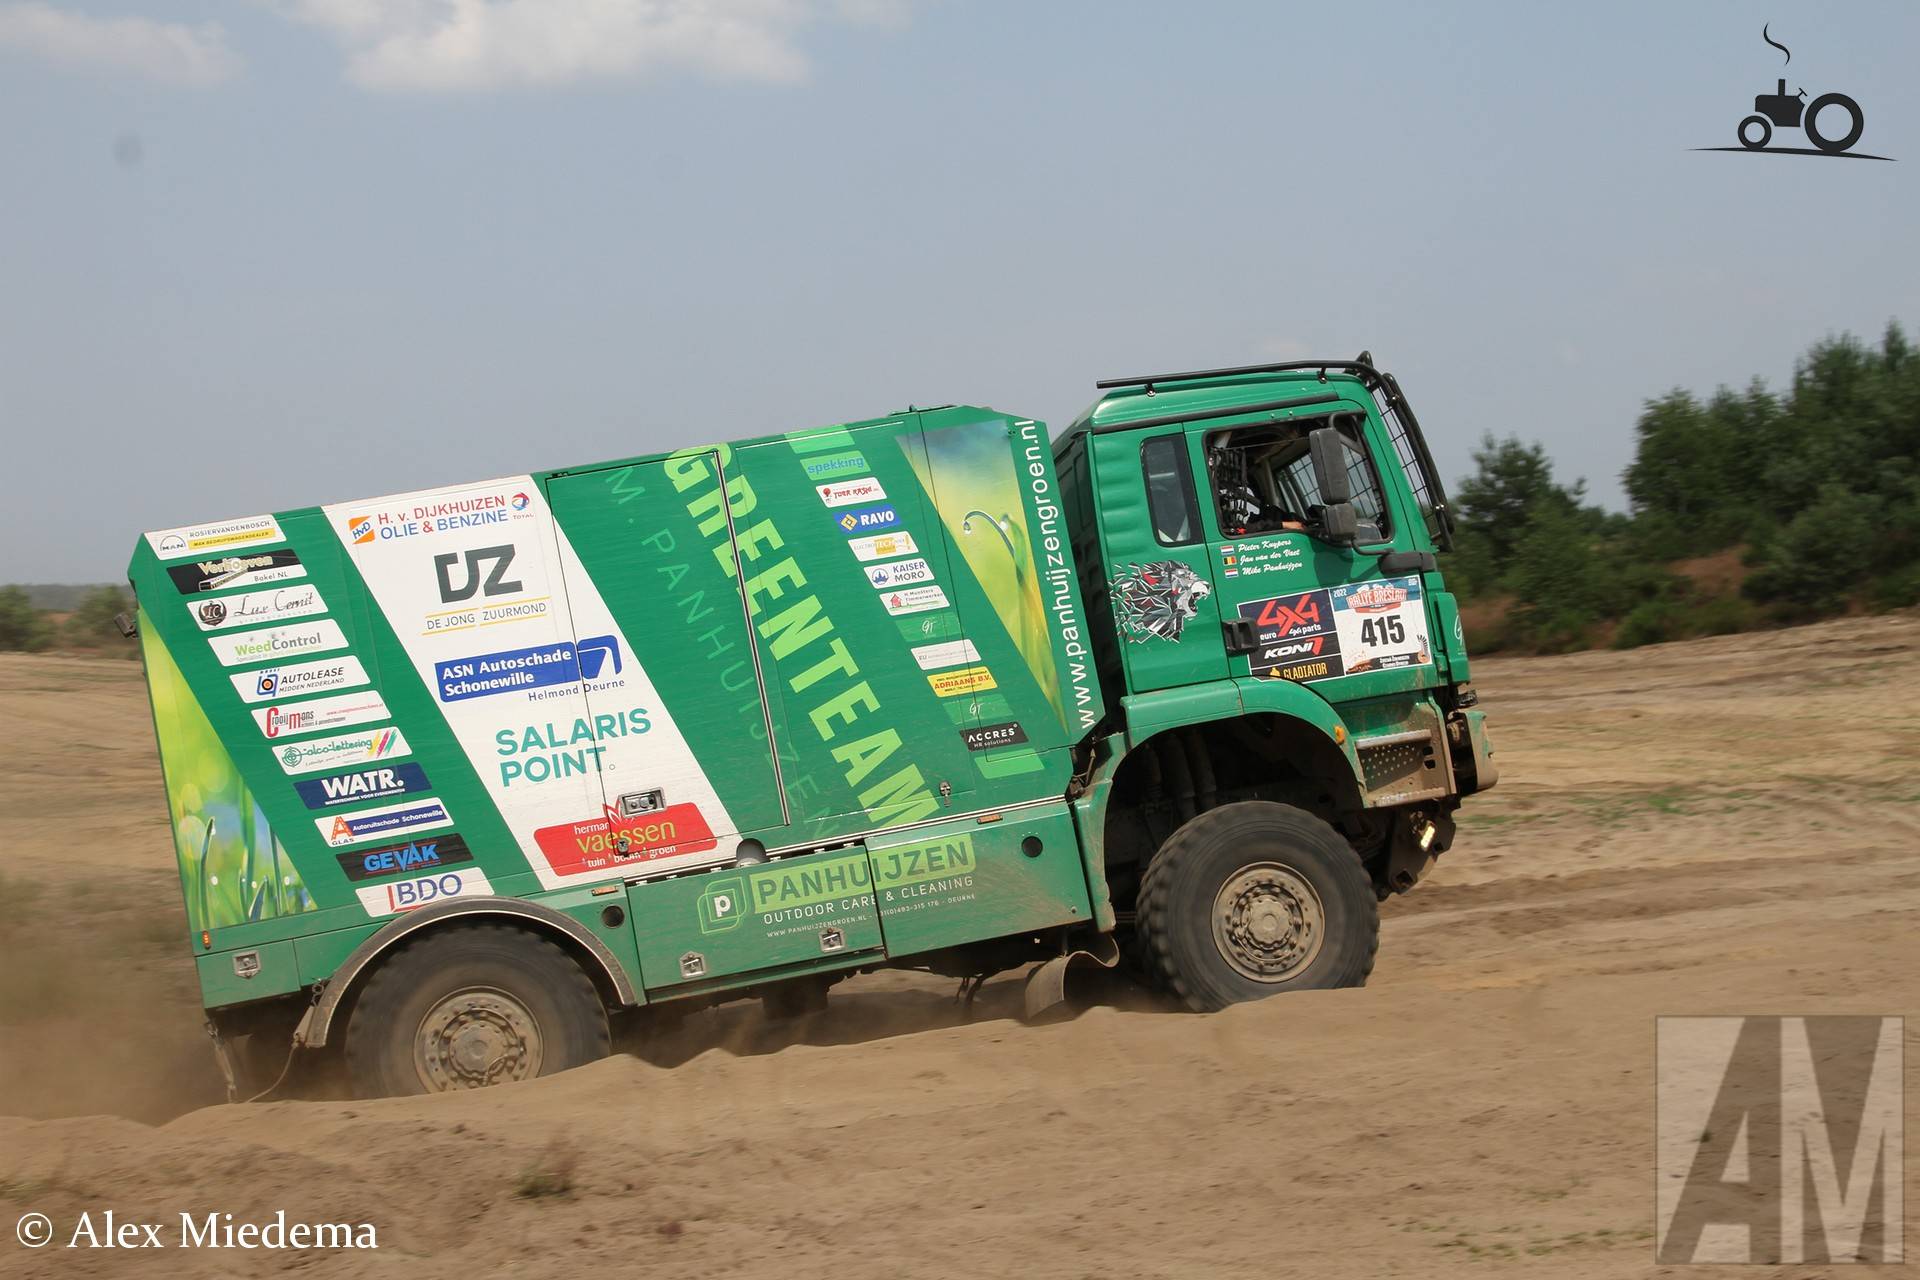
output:
[[[1279,981],[1248,977],[1215,942],[1215,904],[1256,867],[1309,887],[1321,912],[1317,950]],[[1288,990],[1365,984],[1380,908],[1340,833],[1304,810],[1254,800],[1208,810],[1167,837],[1140,879],[1137,929],[1154,981],[1188,1009],[1212,1013]]]

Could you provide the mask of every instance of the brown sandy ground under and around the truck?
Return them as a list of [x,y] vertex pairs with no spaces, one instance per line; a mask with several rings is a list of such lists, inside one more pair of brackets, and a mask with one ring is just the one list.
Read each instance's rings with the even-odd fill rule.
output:
[[[670,1069],[227,1107],[134,664],[0,656],[0,1274],[1695,1274],[1653,1265],[1653,1019],[1910,1011],[1920,618],[1476,676],[1503,779],[1365,990],[1023,1027],[1018,981],[966,1023],[876,975]],[[29,1209],[380,1247],[27,1251]]]

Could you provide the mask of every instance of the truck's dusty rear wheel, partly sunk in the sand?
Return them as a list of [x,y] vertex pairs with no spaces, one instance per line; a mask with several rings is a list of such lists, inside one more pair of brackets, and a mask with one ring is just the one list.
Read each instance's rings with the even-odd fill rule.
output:
[[[449,1034],[430,1034],[430,1017]],[[490,1061],[463,1061],[461,1044]],[[611,1044],[607,1007],[566,952],[524,929],[468,925],[405,942],[374,969],[346,1059],[359,1098],[397,1098],[553,1075]]]

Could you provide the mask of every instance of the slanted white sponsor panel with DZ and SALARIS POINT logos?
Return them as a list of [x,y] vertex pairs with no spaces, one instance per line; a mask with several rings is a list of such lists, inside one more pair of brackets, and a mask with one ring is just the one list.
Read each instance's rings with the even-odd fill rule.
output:
[[[380,510],[386,524],[369,514]],[[342,503],[326,518],[541,887],[624,873],[605,860],[563,875],[536,837],[605,821],[622,789],[664,791],[699,806],[716,837],[737,831],[530,476]],[[522,608],[534,597],[551,608]],[[703,850],[647,867],[722,860]]]

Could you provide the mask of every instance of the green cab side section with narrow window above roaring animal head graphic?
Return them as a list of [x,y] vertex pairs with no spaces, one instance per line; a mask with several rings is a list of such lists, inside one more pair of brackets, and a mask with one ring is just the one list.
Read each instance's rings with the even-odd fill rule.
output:
[[1229,674],[1208,547],[1217,530],[1202,514],[1196,447],[1179,424],[1092,438],[1108,572],[1094,595],[1104,589],[1135,693]]

